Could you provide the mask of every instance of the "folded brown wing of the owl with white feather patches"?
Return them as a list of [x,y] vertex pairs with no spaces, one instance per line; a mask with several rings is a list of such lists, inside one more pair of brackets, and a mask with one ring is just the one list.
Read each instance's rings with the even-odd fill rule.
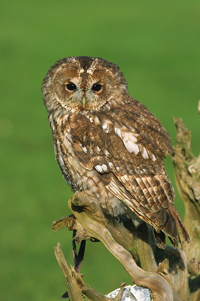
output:
[[127,104],[123,111],[98,116],[70,115],[75,155],[82,166],[96,169],[106,188],[141,219],[175,239],[176,219],[163,210],[174,202],[163,164],[165,153],[173,153],[171,141],[160,121],[142,104],[135,104],[135,111],[133,104],[131,108]]

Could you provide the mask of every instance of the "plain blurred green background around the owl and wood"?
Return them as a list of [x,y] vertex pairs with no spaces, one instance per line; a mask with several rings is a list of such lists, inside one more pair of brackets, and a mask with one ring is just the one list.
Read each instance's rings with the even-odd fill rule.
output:
[[[199,152],[198,1],[4,1],[1,4],[1,300],[59,300],[66,291],[54,257],[73,264],[72,232],[51,231],[72,195],[55,161],[41,84],[62,57],[117,64],[130,95],[157,116],[175,143],[182,117]],[[173,185],[171,158],[166,168]],[[177,193],[175,205],[184,216]],[[101,293],[131,278],[101,243],[86,243],[84,281]]]

